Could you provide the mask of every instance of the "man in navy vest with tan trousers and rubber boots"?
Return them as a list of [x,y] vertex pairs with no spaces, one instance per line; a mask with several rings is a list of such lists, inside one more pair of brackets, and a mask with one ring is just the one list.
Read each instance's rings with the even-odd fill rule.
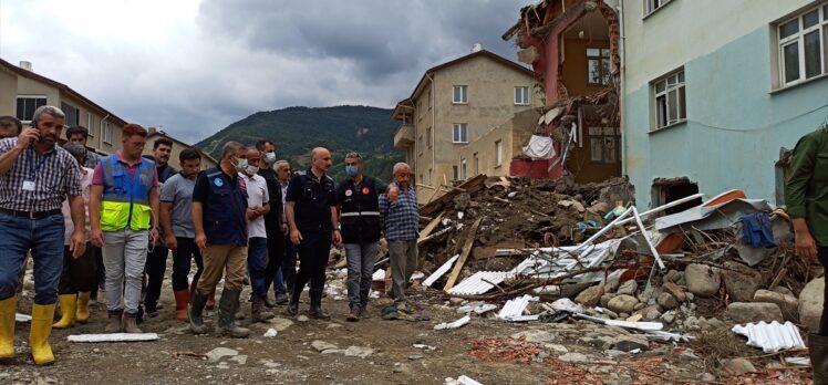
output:
[[216,334],[247,337],[250,331],[236,325],[241,285],[247,269],[247,186],[238,173],[247,169],[247,147],[228,142],[221,163],[196,178],[193,189],[193,226],[201,249],[204,273],[189,303],[189,329],[207,333],[201,312],[227,270],[218,305]]

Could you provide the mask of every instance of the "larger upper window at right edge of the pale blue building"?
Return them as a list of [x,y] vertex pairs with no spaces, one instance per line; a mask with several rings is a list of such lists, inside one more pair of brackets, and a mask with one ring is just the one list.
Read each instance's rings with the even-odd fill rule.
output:
[[[817,22],[814,25],[805,28],[805,15],[814,11],[817,12]],[[796,21],[796,32],[783,38],[783,27],[789,24],[793,21]],[[820,3],[814,7],[809,7],[804,11],[797,12],[795,15],[785,18],[779,22],[774,23],[774,27],[776,28],[776,64],[778,67],[777,76],[779,79],[779,89],[785,89],[791,85],[805,83],[819,76],[828,75],[828,42],[826,41],[826,39],[828,38],[828,4]],[[819,72],[808,77],[805,37],[814,32],[816,32],[817,37],[819,38],[817,50],[820,55],[820,61],[818,64]],[[787,81],[785,74],[785,70],[787,67],[785,61],[785,49],[794,44],[796,44],[797,48],[797,79]]]

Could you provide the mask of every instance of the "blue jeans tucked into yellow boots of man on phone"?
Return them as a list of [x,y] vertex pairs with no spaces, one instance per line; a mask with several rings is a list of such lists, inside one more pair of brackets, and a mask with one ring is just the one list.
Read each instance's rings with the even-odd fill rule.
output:
[[63,215],[42,219],[13,217],[0,212],[0,300],[14,295],[25,252],[34,261],[34,303],[58,302],[58,284],[63,270]]

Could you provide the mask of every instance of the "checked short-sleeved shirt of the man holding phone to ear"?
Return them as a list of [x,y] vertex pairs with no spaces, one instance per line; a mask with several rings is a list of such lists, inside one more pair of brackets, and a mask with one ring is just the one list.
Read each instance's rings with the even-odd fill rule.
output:
[[[17,144],[15,137],[0,141],[0,154],[6,154]],[[34,181],[34,191],[23,190],[27,179]],[[18,155],[11,169],[0,176],[0,208],[7,210],[60,210],[68,195],[81,194],[77,162],[60,146],[43,155],[28,147]]]

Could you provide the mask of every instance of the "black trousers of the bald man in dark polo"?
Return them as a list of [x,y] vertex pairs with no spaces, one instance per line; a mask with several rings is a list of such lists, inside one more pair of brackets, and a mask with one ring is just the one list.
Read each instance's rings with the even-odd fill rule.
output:
[[324,289],[324,270],[331,251],[331,231],[304,231],[299,243],[299,272],[293,292],[302,291],[310,281],[310,289]]

